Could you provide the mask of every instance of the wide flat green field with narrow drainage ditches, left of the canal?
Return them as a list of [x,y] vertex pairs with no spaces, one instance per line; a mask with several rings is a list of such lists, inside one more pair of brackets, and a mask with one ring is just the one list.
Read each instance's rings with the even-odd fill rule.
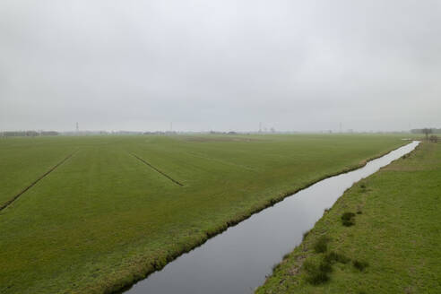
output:
[[368,134],[1,139],[0,206],[73,155],[0,211],[0,292],[117,290],[403,143]]

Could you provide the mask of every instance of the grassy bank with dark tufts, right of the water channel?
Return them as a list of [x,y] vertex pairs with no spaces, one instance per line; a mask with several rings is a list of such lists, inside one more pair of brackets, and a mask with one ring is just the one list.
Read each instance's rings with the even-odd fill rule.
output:
[[352,186],[256,293],[441,293],[440,212],[441,144],[422,143]]

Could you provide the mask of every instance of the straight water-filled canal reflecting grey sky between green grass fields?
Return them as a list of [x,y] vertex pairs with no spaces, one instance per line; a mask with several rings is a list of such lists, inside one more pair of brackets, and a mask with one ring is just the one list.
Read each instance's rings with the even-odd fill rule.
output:
[[125,293],[252,293],[272,273],[272,265],[298,246],[303,232],[311,229],[346,189],[418,144],[414,141],[363,168],[326,178],[285,198],[181,255]]

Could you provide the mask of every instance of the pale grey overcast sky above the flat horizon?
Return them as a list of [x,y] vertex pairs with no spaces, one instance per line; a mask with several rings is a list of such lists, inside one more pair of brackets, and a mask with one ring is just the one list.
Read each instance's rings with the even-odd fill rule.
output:
[[441,2],[1,0],[0,130],[441,127]]

